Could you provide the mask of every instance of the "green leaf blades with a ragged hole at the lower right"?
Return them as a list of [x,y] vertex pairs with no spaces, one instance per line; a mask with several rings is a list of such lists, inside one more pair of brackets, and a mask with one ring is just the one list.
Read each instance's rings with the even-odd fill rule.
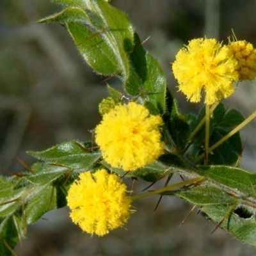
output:
[[256,247],[256,173],[230,166],[201,166],[207,180],[200,186],[166,191],[192,204],[234,237]]

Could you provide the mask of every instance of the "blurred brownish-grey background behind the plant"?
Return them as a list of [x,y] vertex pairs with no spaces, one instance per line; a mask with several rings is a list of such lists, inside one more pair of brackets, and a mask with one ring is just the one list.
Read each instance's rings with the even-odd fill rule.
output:
[[[177,93],[170,62],[188,40],[207,36],[223,40],[234,29],[239,40],[256,46],[256,1],[243,0],[115,0],[129,15],[144,47],[161,63],[168,86],[179,100],[180,111],[198,113],[200,104]],[[2,0],[0,8],[0,173],[8,175],[35,159],[27,150],[44,150],[67,140],[90,140],[88,130],[100,121],[97,105],[107,96],[104,77],[96,76],[77,52],[67,31],[59,24],[36,24],[36,20],[61,10],[49,0]],[[117,79],[108,81],[121,90]],[[255,81],[239,84],[225,105],[244,116],[256,109]],[[241,132],[246,147],[241,166],[255,171],[253,121]],[[247,140],[246,140],[247,139]],[[131,188],[131,180],[127,180]],[[140,192],[147,184],[137,182]],[[135,192],[135,193],[136,193]],[[255,255],[211,221],[196,214],[179,228],[191,205],[179,198],[158,197],[136,202],[125,228],[105,237],[83,234],[68,217],[67,207],[45,214],[28,228],[18,244],[18,256],[78,255]]]

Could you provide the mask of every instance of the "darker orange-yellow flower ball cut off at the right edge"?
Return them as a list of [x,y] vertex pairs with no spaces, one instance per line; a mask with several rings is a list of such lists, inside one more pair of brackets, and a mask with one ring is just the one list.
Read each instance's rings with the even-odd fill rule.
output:
[[238,61],[239,80],[253,80],[256,72],[256,49],[253,48],[253,45],[243,40],[230,42],[228,48]]

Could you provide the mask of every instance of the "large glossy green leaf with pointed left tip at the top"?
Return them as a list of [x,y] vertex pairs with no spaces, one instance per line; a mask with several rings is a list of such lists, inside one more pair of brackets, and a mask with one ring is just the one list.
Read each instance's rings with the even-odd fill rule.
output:
[[120,74],[128,81],[127,52],[132,49],[134,31],[127,16],[104,0],[83,1],[74,6],[39,22],[65,22],[79,52],[95,71]]

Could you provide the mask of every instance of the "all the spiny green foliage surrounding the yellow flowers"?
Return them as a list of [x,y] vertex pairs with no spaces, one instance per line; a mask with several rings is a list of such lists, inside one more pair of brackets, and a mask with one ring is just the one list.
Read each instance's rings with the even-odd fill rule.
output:
[[[143,48],[128,17],[104,0],[54,0],[67,8],[39,22],[64,24],[78,51],[92,69],[107,77],[117,76],[124,93],[108,86],[109,96],[120,100],[128,95],[164,119],[163,139],[166,153],[126,177],[156,182],[166,175],[202,178],[161,195],[176,195],[200,206],[212,221],[230,234],[256,247],[256,175],[237,168],[243,151],[237,132],[209,155],[209,166],[199,166],[196,157],[204,152],[204,125],[191,136],[205,117],[179,112],[177,100],[166,89],[166,78],[159,63]],[[235,109],[227,112],[223,104],[211,114],[210,147],[244,118]],[[106,134],[107,136],[107,134]],[[19,239],[26,236],[27,225],[51,209],[67,205],[67,190],[81,172],[107,168],[117,175],[124,170],[111,167],[102,159],[97,145],[67,141],[42,152],[29,152],[40,162],[29,172],[0,177],[0,254],[12,255]],[[199,164],[203,164],[200,161]]]

